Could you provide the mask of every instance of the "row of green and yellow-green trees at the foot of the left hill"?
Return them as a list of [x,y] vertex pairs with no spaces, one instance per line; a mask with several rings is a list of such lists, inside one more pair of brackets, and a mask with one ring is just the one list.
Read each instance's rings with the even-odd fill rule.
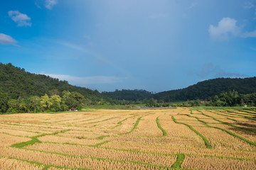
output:
[[62,97],[58,94],[43,96],[10,98],[8,94],[0,93],[1,113],[39,113],[69,111],[70,108],[81,109],[87,103],[82,94],[76,91],[63,91]]

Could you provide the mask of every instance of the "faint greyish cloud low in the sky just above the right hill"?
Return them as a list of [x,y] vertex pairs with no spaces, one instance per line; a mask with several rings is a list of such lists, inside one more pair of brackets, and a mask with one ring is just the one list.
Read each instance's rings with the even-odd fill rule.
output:
[[204,64],[200,73],[196,74],[198,77],[206,78],[208,76],[213,77],[230,77],[230,78],[244,78],[249,77],[245,74],[235,73],[235,72],[225,72],[219,65],[213,65],[213,63]]

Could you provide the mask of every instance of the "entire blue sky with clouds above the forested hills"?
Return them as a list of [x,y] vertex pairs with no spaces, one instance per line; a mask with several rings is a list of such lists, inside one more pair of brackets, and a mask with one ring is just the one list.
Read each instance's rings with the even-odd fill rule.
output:
[[90,89],[256,76],[256,0],[1,0],[0,17],[0,62]]

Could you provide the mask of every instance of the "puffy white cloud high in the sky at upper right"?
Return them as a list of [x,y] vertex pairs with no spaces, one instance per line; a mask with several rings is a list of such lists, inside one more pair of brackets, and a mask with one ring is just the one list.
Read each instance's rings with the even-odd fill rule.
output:
[[238,35],[240,27],[236,26],[237,21],[233,18],[222,18],[218,26],[209,26],[210,37],[217,40],[228,40],[230,35]]

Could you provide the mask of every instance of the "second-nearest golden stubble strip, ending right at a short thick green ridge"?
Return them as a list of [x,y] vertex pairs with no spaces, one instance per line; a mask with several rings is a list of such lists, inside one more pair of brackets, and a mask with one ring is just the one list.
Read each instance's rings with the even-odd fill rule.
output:
[[77,155],[83,157],[98,157],[104,159],[115,159],[121,161],[143,162],[156,164],[159,166],[171,166],[176,161],[174,156],[164,156],[158,154],[146,154],[137,152],[124,152],[114,149],[103,149],[95,147],[56,145],[56,144],[36,144],[27,147],[46,152],[58,152],[62,154]]

